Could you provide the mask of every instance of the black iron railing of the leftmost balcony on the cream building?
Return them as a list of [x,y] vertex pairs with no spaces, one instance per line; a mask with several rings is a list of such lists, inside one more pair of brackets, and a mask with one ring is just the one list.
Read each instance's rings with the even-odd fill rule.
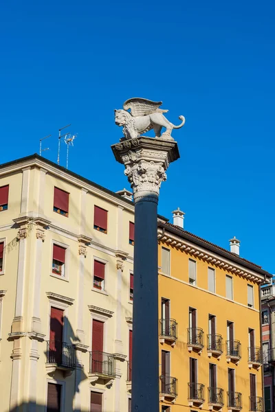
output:
[[47,341],[47,363],[74,368],[76,366],[75,346],[61,341]]

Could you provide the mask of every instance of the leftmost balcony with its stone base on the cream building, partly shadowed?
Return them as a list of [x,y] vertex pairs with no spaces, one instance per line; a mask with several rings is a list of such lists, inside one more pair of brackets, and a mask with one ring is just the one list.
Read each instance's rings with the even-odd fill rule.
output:
[[76,348],[61,341],[47,341],[47,374],[52,376],[56,370],[63,376],[70,376],[76,366]]

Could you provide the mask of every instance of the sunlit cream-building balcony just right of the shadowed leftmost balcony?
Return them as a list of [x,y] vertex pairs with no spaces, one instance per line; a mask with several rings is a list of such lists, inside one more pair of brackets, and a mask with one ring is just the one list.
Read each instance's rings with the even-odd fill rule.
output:
[[89,381],[94,383],[103,382],[109,386],[115,378],[115,359],[113,354],[106,352],[94,351],[90,352],[90,371]]

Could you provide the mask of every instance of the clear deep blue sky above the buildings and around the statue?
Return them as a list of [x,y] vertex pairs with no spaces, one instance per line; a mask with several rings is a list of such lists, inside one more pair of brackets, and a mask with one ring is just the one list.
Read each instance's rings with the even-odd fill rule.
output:
[[[274,1],[5,1],[0,10],[1,156],[56,161],[58,128],[78,133],[69,169],[129,187],[110,146],[113,109],[162,100],[181,158],[159,214],[274,273]],[[65,144],[61,151],[65,165]]]

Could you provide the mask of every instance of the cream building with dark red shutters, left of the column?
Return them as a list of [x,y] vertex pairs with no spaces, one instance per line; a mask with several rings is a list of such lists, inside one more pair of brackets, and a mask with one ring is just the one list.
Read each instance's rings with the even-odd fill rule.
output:
[[38,155],[0,166],[0,411],[128,411],[131,223]]

